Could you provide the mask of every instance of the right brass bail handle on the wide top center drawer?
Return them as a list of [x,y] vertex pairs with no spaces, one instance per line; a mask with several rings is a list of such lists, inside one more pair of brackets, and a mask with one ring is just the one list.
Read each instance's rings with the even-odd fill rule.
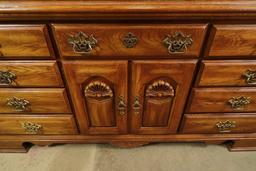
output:
[[182,32],[176,32],[174,35],[167,35],[163,40],[169,53],[184,53],[187,47],[192,45],[193,40],[190,35],[184,35]]

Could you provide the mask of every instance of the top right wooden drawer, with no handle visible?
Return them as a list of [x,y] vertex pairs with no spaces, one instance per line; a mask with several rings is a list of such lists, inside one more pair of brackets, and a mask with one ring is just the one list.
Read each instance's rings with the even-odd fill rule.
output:
[[255,56],[256,25],[215,25],[209,58]]

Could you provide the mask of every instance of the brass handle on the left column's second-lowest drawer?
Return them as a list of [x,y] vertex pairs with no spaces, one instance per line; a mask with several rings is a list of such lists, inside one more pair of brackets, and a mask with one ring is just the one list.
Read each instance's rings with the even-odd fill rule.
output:
[[12,97],[7,99],[7,106],[10,106],[15,111],[19,112],[28,112],[31,110],[30,108],[30,102],[26,99],[18,98],[18,97]]

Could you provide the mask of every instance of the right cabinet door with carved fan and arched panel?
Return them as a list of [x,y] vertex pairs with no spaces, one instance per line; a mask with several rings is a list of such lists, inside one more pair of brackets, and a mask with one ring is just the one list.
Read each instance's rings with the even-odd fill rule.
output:
[[133,133],[176,133],[195,65],[195,60],[132,62]]

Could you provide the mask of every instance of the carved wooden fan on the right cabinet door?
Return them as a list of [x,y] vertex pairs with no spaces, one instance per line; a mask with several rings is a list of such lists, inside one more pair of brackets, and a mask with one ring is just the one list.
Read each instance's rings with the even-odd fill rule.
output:
[[164,80],[157,80],[150,84],[146,90],[146,97],[173,97],[173,86]]

